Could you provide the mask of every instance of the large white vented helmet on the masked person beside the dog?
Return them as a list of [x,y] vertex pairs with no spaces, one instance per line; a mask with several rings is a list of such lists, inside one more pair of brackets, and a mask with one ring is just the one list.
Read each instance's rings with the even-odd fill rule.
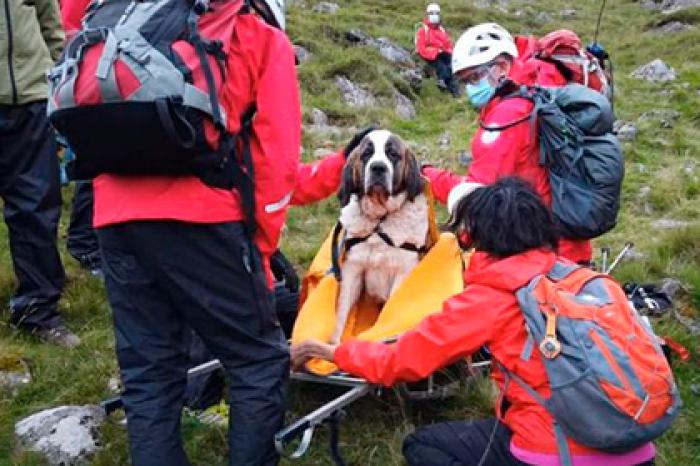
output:
[[479,24],[467,29],[452,52],[452,72],[485,65],[505,53],[518,57],[513,36],[496,23]]

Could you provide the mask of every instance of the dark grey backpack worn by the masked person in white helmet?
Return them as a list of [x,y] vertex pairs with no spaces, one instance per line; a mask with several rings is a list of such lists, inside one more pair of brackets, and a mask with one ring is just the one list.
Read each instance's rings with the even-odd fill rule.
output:
[[547,167],[552,193],[551,211],[561,236],[591,239],[617,222],[624,159],[612,134],[613,113],[602,94],[581,84],[560,88],[521,86],[504,99],[519,97],[534,103],[530,115],[499,131],[530,121],[537,131],[540,164]]

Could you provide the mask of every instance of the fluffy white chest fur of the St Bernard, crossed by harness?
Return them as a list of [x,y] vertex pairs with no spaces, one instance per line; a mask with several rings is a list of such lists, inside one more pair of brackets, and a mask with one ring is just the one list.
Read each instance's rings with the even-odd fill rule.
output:
[[[386,243],[376,231],[377,224],[396,247]],[[418,253],[401,249],[404,243],[422,247],[428,234],[428,202],[419,195],[413,202],[405,194],[391,196],[386,206],[369,198],[352,200],[341,212],[340,220],[347,238],[367,238],[346,254],[343,276],[362,277],[365,294],[385,302],[410,271],[418,264]]]

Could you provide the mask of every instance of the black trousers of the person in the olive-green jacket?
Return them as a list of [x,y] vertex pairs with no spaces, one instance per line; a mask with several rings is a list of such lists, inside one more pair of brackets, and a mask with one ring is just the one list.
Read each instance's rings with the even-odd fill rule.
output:
[[61,190],[46,102],[0,105],[0,197],[18,287],[10,321],[55,327],[65,281],[56,247]]

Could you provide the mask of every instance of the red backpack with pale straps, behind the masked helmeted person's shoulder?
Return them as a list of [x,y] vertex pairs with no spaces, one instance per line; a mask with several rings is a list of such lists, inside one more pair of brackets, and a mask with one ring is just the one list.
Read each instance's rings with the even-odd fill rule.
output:
[[559,29],[537,41],[534,57],[556,66],[570,83],[578,83],[612,98],[613,81],[604,63],[584,49],[575,32]]

